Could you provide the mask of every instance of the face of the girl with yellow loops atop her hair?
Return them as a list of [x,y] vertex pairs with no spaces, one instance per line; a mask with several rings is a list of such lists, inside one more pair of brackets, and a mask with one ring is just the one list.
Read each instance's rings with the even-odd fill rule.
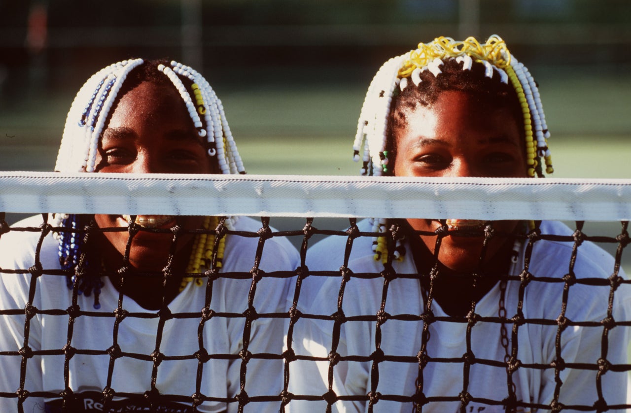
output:
[[[404,110],[406,125],[394,130],[399,177],[527,177],[522,125],[509,109],[463,91],[444,91],[438,99],[414,110]],[[452,217],[458,218],[458,217]],[[408,219],[417,231],[435,231],[437,219]],[[461,224],[476,226],[473,221]],[[495,221],[493,228],[513,231],[517,221]],[[450,234],[455,232],[449,231]],[[436,236],[420,236],[434,253]],[[492,239],[485,262],[505,250],[505,238]],[[483,237],[448,235],[442,239],[438,259],[457,272],[480,269]]]

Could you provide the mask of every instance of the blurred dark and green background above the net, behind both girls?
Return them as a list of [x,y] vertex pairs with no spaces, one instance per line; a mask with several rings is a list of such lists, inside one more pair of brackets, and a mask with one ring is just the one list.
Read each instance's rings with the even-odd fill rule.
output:
[[81,84],[141,56],[201,68],[249,173],[356,175],[382,62],[497,33],[540,84],[553,176],[629,178],[630,23],[628,0],[0,0],[0,170],[52,170]]

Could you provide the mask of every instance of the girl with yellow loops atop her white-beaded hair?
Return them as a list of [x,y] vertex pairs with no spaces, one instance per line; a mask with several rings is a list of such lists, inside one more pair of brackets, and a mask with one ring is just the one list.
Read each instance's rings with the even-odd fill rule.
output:
[[[363,175],[542,178],[548,137],[538,86],[501,38],[439,37],[381,67],[354,150]],[[630,329],[615,322],[630,319],[631,294],[618,286],[610,306],[614,260],[593,243],[576,252],[572,230],[546,221],[351,230],[379,236],[346,257],[351,237],[307,252],[310,270],[340,276],[298,300],[319,318],[295,323],[292,411],[623,410]]]

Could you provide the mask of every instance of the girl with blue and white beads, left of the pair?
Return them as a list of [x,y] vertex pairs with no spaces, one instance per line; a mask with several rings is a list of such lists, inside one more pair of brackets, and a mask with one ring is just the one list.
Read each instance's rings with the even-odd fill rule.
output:
[[[244,166],[206,79],[177,62],[133,59],[76,95],[56,170],[142,178]],[[1,269],[40,272],[0,276],[0,310],[30,309],[0,316],[0,411],[278,411],[283,361],[259,354],[282,352],[283,322],[256,315],[283,311],[288,285],[256,271],[291,271],[298,254],[283,237],[259,240],[261,226],[54,214],[43,235],[2,235]]]

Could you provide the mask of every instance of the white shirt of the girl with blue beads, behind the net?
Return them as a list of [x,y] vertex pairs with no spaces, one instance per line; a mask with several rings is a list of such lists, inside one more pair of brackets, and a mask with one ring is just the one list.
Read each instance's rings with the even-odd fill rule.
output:
[[[38,226],[40,217],[21,221],[15,226]],[[255,232],[261,223],[242,217],[235,224],[237,231]],[[99,310],[93,308],[93,296],[78,296],[78,306],[89,315],[81,315],[69,326],[66,309],[73,305],[72,292],[66,286],[66,277],[47,274],[50,270],[59,270],[57,255],[58,243],[52,235],[45,237],[40,252],[40,262],[44,275],[33,281],[30,274],[16,275],[6,272],[13,269],[28,269],[35,262],[35,250],[40,234],[37,232],[11,231],[0,236],[0,311],[25,308],[33,289],[32,305],[38,309],[37,315],[28,323],[28,347],[33,351],[59,353],[68,340],[76,354],[68,363],[68,387],[78,397],[73,412],[97,412],[102,405],[99,393],[107,384],[110,368],[110,355],[81,354],[85,351],[107,351],[114,345],[120,348],[122,357],[114,360],[111,388],[115,392],[140,393],[151,389],[151,373],[154,366],[151,354],[159,347],[167,357],[182,356],[183,359],[163,360],[159,364],[155,387],[164,395],[190,397],[196,393],[199,360],[192,356],[199,352],[200,346],[211,355],[203,363],[201,388],[203,395],[217,399],[233,398],[240,393],[240,369],[242,359],[239,352],[243,349],[245,318],[242,316],[248,308],[248,294],[252,284],[249,279],[219,278],[213,283],[210,309],[216,313],[232,313],[234,317],[209,318],[200,327],[201,310],[206,304],[206,287],[189,283],[168,305],[174,318],[164,322],[160,344],[156,344],[160,318],[158,311],[147,311],[135,301],[125,297],[122,307],[129,315],[114,329],[114,311],[118,307],[119,293],[112,286],[109,278],[103,277],[105,285],[100,293]],[[228,235],[225,245],[225,259],[220,272],[249,272],[256,255],[258,238],[245,238]],[[266,271],[294,270],[298,265],[298,253],[286,238],[273,237],[265,241],[259,268]],[[256,287],[254,307],[257,313],[287,311],[285,297],[290,288],[290,281],[282,277],[262,277]],[[51,311],[51,310],[61,311]],[[151,318],[144,318],[150,315]],[[252,354],[281,354],[283,351],[282,318],[258,318],[252,322],[249,334],[249,348]],[[198,332],[201,333],[198,336]],[[114,335],[115,334],[115,335]],[[20,355],[2,355],[1,352],[16,352],[25,346],[25,314],[0,316],[0,393],[15,393],[20,387],[23,358]],[[133,353],[133,354],[131,354]],[[136,355],[134,355],[136,354]],[[41,354],[26,359],[25,390],[28,392],[64,391],[64,362],[60,355]],[[247,363],[245,392],[252,398],[256,396],[278,396],[283,389],[283,360],[252,358]],[[95,393],[97,392],[97,393]],[[59,398],[59,397],[57,397]],[[118,397],[117,397],[118,398]],[[124,398],[124,397],[123,397]],[[54,397],[28,397],[24,402],[24,411],[56,411],[54,405],[61,405],[61,400]],[[127,410],[136,411],[126,402]],[[164,412],[188,412],[191,400],[182,401],[174,410]],[[17,398],[1,397],[0,411],[16,412]],[[189,410],[184,410],[188,405]],[[182,407],[184,406],[184,407]],[[237,402],[213,400],[198,406],[199,411],[218,412],[237,411]],[[280,402],[250,402],[245,411],[276,412]],[[52,410],[51,410],[52,409]],[[84,410],[80,410],[84,409]],[[180,409],[180,410],[178,410]],[[119,411],[119,410],[110,410]],[[138,410],[140,411],[140,410]],[[144,411],[144,410],[143,410]]]

